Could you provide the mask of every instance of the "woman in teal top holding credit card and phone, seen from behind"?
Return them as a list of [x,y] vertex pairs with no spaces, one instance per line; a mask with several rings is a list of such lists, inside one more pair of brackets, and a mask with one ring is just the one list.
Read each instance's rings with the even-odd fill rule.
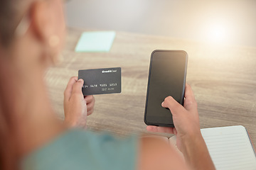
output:
[[0,24],[0,169],[215,169],[190,86],[184,107],[171,96],[162,103],[176,128],[147,127],[174,133],[184,159],[156,137],[117,139],[73,129],[86,126],[93,96],[84,98],[83,81],[72,77],[64,93],[63,123],[43,79],[63,45],[62,1],[1,0]]

